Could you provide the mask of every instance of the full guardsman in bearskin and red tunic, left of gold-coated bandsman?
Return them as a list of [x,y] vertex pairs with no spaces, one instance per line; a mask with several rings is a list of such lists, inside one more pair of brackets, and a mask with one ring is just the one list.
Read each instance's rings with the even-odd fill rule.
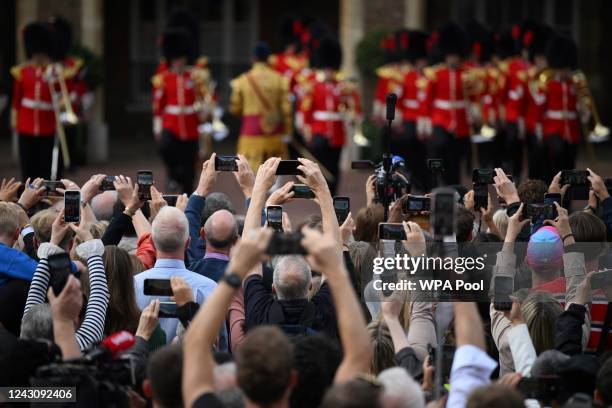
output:
[[168,173],[168,190],[193,189],[198,153],[198,87],[188,65],[193,44],[182,28],[166,30],[162,38],[168,69],[153,77],[153,131]]

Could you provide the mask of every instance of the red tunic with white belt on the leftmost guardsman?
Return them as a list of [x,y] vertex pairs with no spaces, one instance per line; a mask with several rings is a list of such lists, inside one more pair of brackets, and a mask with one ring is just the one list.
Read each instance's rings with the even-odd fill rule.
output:
[[17,133],[42,137],[55,134],[55,112],[49,83],[45,80],[46,68],[23,64],[11,69]]

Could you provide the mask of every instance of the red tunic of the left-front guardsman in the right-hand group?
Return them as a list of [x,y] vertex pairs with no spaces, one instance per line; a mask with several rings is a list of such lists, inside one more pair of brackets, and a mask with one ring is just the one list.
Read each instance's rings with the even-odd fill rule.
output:
[[433,126],[441,126],[456,137],[468,137],[470,128],[463,89],[463,69],[438,65],[427,68],[425,104]]

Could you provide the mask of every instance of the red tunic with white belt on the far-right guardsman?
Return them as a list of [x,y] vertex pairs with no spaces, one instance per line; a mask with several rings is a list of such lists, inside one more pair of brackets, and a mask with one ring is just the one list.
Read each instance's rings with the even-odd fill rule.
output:
[[571,144],[580,141],[580,122],[576,85],[571,78],[553,77],[544,87],[546,101],[542,111],[544,137],[559,135]]

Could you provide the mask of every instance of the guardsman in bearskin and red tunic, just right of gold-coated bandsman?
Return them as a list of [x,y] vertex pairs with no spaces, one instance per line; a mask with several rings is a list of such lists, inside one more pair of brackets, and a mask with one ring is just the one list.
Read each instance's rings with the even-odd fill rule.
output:
[[328,180],[332,195],[340,177],[340,154],[346,143],[345,113],[360,113],[359,100],[354,88],[338,80],[337,71],[342,64],[342,49],[334,38],[321,40],[317,48],[316,82],[301,101],[304,117],[304,138],[313,156],[331,173]]

